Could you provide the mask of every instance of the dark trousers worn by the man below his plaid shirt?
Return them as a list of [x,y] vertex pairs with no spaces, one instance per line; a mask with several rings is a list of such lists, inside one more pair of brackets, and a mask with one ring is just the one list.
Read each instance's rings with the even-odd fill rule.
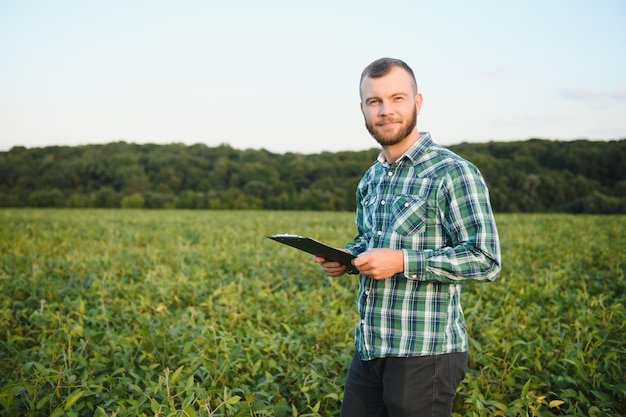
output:
[[467,352],[362,361],[346,378],[341,417],[450,417]]

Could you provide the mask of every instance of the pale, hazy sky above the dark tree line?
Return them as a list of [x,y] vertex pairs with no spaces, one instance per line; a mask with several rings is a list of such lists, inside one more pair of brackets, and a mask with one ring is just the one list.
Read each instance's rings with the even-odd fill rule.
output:
[[358,82],[383,56],[442,145],[623,139],[624,22],[624,0],[0,0],[0,151],[371,149]]

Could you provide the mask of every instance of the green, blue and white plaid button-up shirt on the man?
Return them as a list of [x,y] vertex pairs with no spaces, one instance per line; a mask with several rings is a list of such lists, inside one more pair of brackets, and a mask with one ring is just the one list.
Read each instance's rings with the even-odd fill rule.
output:
[[363,360],[468,350],[461,283],[493,281],[498,231],[478,169],[429,133],[389,165],[382,153],[357,188],[353,254],[401,249],[404,272],[360,275],[355,344]]

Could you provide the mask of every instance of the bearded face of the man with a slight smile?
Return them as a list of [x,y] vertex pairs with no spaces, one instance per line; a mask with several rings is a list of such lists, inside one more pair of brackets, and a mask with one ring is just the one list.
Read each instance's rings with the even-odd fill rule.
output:
[[365,127],[382,146],[402,142],[416,127],[422,106],[412,77],[402,68],[392,68],[379,78],[361,83],[361,112]]

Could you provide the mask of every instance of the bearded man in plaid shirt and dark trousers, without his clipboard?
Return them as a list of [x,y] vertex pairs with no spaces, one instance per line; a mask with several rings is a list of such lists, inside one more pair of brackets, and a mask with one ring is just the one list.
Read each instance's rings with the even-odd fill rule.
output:
[[489,193],[473,164],[418,132],[422,95],[406,63],[372,62],[360,93],[382,152],[358,185],[358,235],[346,247],[358,255],[359,322],[341,415],[450,416],[467,369],[461,284],[500,271]]

